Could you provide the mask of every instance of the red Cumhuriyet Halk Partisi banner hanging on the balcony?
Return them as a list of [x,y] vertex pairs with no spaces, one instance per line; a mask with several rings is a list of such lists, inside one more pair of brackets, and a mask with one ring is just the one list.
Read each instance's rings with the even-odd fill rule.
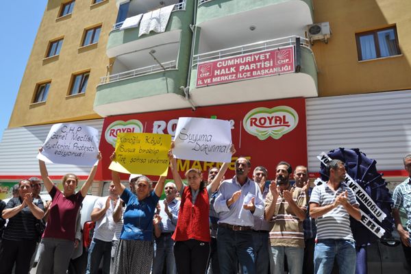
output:
[[197,88],[294,71],[294,46],[259,51],[199,64]]

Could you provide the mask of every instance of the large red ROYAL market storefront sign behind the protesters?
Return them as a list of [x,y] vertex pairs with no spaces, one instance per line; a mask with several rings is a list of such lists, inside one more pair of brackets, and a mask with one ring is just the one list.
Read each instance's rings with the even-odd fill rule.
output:
[[[104,119],[100,140],[103,160],[96,179],[111,179],[109,156],[114,151],[119,132],[173,135],[179,117],[213,116],[228,120],[232,125],[232,142],[237,150],[232,163],[239,156],[245,156],[251,160],[252,169],[260,165],[266,166],[269,178],[275,177],[275,166],[279,161],[285,160],[292,166],[307,165],[306,100],[297,98],[201,107],[195,112],[182,109],[107,117]],[[179,159],[177,165],[184,175],[190,168],[208,171],[216,163]],[[231,164],[225,177],[233,175],[234,164]],[[249,175],[252,175],[252,171]],[[125,180],[127,178],[127,175],[122,177]],[[172,179],[171,172],[168,178]]]

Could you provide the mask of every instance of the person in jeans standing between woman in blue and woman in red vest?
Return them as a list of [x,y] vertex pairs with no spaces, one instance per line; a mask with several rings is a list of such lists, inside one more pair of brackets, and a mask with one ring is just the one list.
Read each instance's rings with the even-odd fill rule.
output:
[[165,265],[166,274],[175,274],[175,259],[173,254],[174,240],[171,236],[177,225],[177,216],[179,212],[180,201],[175,199],[177,186],[169,182],[164,187],[166,199],[159,201],[160,214],[155,219],[160,220],[158,223],[160,235],[155,238],[155,256],[153,260],[153,274],[162,274]]

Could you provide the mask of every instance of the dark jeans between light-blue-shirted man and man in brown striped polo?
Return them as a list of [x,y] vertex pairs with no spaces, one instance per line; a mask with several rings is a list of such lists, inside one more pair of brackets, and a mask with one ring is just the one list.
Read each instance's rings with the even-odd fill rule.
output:
[[268,274],[269,258],[269,232],[253,231],[254,254],[256,256],[256,273]]

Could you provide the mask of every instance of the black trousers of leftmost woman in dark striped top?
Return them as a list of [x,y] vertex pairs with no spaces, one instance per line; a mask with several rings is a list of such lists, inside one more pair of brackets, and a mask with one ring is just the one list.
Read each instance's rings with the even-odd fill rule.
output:
[[36,240],[1,241],[0,274],[11,274],[14,262],[15,274],[27,274],[30,271],[30,260],[36,250]]

